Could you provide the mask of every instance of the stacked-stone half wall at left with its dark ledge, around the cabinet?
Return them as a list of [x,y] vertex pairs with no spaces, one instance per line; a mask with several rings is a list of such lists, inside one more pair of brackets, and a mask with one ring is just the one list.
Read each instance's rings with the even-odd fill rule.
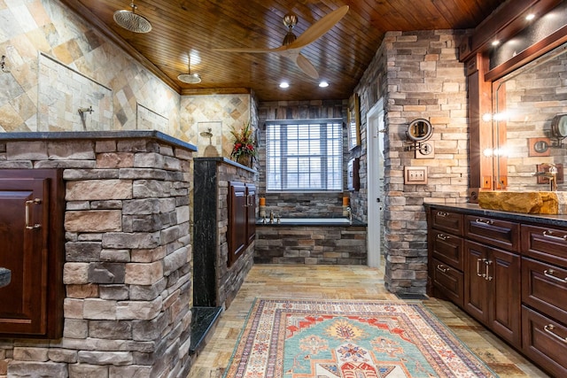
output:
[[0,340],[0,375],[187,376],[195,150],[153,131],[0,137],[0,168],[66,181],[63,337]]

